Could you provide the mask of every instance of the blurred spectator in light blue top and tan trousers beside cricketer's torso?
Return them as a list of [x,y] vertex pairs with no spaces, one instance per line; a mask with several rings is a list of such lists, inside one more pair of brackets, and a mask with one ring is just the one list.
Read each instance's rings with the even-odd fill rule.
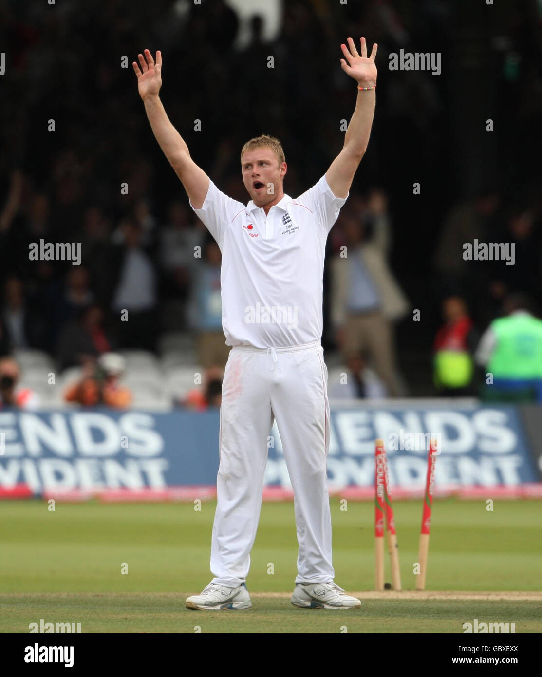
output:
[[190,303],[191,326],[197,332],[198,362],[205,368],[225,366],[231,349],[222,329],[221,260],[217,242],[208,236],[194,276]]

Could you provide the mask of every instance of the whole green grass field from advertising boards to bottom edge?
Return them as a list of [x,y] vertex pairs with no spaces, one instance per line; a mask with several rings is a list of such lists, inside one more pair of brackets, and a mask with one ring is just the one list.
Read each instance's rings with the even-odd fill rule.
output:
[[[246,612],[184,608],[185,597],[212,577],[214,503],[197,511],[179,503],[57,502],[54,512],[37,500],[0,503],[0,632],[28,632],[40,618],[81,622],[83,632],[462,632],[474,618],[542,632],[540,502],[495,501],[488,511],[485,501],[435,500],[427,594],[407,592],[414,588],[421,502],[394,503],[405,592],[380,594],[369,592],[373,504],[331,505],[335,580],[347,592],[361,591],[359,610],[291,605],[292,503],[263,504],[247,582],[253,609]],[[430,592],[436,590],[447,593]]]

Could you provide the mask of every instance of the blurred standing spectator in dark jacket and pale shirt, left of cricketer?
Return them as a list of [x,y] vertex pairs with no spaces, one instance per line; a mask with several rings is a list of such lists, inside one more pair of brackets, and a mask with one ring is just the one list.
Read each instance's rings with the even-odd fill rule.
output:
[[[121,230],[124,241],[113,264],[118,269],[118,282],[111,304],[118,319],[120,345],[154,350],[158,329],[154,265],[141,246],[141,226],[133,219],[124,219]],[[128,317],[122,321],[124,310]]]

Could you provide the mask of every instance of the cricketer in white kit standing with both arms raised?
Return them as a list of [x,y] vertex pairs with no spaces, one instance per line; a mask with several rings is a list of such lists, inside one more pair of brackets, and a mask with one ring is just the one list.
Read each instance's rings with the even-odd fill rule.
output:
[[365,38],[341,45],[342,69],[357,81],[344,147],[325,176],[299,198],[284,194],[287,171],[277,139],[251,139],[241,152],[250,201],[221,192],[191,159],[158,97],[162,55],[133,62],[152,131],[222,252],[223,330],[231,346],[223,380],[212,582],[189,609],[250,609],[246,577],[261,509],[267,438],[277,420],[294,489],[298,575],[292,604],[359,607],[334,583],[327,485],[328,372],[321,347],[325,240],[365,154],[376,102],[376,49]]

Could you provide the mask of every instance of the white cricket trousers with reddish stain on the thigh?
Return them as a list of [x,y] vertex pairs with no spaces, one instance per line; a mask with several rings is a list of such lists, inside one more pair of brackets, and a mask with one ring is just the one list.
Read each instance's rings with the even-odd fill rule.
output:
[[296,583],[334,579],[327,483],[330,445],[328,370],[319,342],[293,348],[235,346],[225,368],[220,410],[213,583],[240,586],[250,568],[267,463],[277,420],[294,490],[299,544]]

